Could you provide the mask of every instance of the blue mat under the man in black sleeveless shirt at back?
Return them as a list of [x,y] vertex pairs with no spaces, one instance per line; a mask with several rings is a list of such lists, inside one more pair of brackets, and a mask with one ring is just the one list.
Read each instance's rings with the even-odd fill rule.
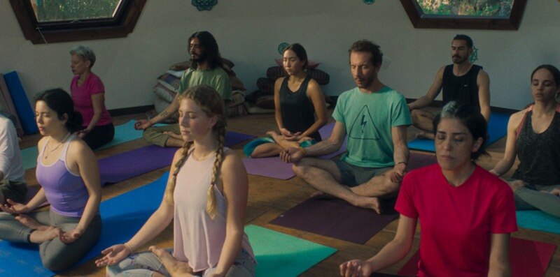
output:
[[[507,121],[510,119],[510,114],[501,112],[492,112],[490,115],[490,122],[488,123],[488,142],[486,145],[497,142],[502,137],[507,135]],[[416,139],[408,142],[408,148],[421,151],[435,152],[433,140]]]

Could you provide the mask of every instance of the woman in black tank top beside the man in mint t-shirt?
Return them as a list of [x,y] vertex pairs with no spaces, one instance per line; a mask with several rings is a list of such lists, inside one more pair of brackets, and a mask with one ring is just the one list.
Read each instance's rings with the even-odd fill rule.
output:
[[277,156],[287,147],[308,147],[321,141],[319,128],[327,123],[325,97],[319,84],[307,76],[307,52],[294,43],[283,51],[283,68],[288,73],[274,84],[274,118],[279,133],[260,137],[245,145],[246,156]]

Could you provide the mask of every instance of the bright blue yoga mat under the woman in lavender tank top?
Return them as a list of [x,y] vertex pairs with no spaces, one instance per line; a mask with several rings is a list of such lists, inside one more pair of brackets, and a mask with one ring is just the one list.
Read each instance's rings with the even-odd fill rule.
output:
[[[165,173],[151,184],[102,202],[99,206],[103,220],[101,239],[76,265],[92,260],[105,248],[122,244],[136,234],[162,202],[168,177],[169,173]],[[0,276],[55,275],[42,266],[38,247],[34,245],[0,241],[0,257]]]

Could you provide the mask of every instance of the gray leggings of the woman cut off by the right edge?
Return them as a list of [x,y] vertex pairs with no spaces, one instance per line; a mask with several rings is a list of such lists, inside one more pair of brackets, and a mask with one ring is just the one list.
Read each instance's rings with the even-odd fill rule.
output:
[[[514,181],[510,179],[508,181]],[[560,217],[560,197],[540,190],[550,191],[560,185],[541,186],[527,184],[515,190],[515,207],[518,210],[540,209],[552,216]]]

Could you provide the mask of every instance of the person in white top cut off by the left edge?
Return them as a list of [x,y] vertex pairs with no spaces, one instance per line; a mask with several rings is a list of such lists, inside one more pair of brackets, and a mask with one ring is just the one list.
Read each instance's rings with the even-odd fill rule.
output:
[[0,112],[0,204],[6,200],[23,202],[25,186],[18,135],[13,122]]

